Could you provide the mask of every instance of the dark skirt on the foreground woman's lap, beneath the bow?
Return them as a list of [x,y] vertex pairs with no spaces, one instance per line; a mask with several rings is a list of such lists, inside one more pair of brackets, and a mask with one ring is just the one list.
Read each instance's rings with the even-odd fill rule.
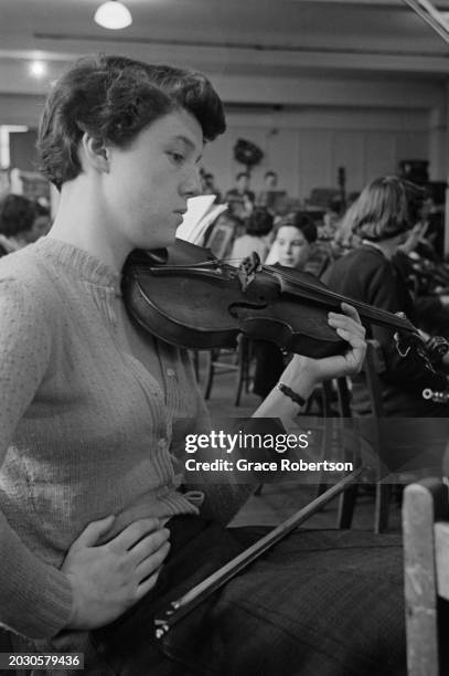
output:
[[159,641],[161,609],[268,530],[196,517],[169,528],[172,550],[154,590],[90,634],[104,665],[92,673],[405,676],[399,536],[298,530]]

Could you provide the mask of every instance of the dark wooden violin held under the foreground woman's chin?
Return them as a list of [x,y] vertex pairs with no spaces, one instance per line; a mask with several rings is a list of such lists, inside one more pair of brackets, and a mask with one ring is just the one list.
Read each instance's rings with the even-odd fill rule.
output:
[[316,359],[343,353],[348,344],[329,326],[328,313],[341,311],[344,302],[362,323],[394,329],[403,356],[414,347],[428,362],[448,349],[441,339],[429,355],[408,319],[333,293],[308,273],[263,266],[257,254],[237,268],[179,239],[164,250],[131,252],[122,294],[138,325],[183,348],[234,347],[244,334]]

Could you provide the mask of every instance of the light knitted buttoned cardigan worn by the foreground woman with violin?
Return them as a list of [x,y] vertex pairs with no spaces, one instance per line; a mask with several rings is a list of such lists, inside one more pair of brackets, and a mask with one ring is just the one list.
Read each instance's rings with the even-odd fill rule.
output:
[[129,321],[119,275],[51,237],[0,261],[0,623],[44,638],[68,620],[58,569],[89,521],[116,515],[114,537],[197,511],[170,440],[207,415],[186,352]]

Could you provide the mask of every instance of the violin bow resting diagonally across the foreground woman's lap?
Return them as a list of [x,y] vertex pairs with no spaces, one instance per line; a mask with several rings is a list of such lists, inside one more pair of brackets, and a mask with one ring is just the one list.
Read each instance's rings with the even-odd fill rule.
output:
[[344,476],[334,486],[309,503],[309,505],[306,505],[306,507],[302,507],[302,509],[299,511],[296,511],[286,521],[277,526],[274,530],[270,530],[270,532],[268,532],[265,537],[248,547],[248,549],[245,549],[245,551],[225,563],[225,566],[193,587],[185,594],[175,601],[172,601],[168,608],[161,611],[158,617],[154,617],[156,637],[162,638],[170,627],[173,626],[173,624],[182,620],[182,617],[196,608],[196,605],[202,603],[217,589],[226,584],[226,582],[228,582],[232,578],[247,568],[249,563],[258,559],[263,553],[265,553],[279,540],[285,538],[295,528],[303,524],[307,519],[324,507],[324,505],[332,500],[336,495],[345,490],[348,486],[353,484],[365,469],[366,467],[359,467]]

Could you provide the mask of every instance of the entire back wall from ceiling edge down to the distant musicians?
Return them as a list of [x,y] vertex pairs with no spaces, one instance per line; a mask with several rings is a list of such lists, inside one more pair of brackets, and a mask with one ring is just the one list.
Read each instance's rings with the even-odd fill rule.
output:
[[[226,102],[228,129],[205,149],[203,163],[222,191],[242,169],[233,160],[233,147],[240,137],[265,152],[264,162],[254,170],[256,191],[264,172],[274,169],[279,188],[303,199],[314,187],[336,188],[341,166],[346,170],[348,192],[359,191],[376,176],[397,171],[402,159],[427,159],[430,178],[446,179],[442,83],[211,77]],[[43,92],[0,94],[0,124],[35,127],[43,101]]]

